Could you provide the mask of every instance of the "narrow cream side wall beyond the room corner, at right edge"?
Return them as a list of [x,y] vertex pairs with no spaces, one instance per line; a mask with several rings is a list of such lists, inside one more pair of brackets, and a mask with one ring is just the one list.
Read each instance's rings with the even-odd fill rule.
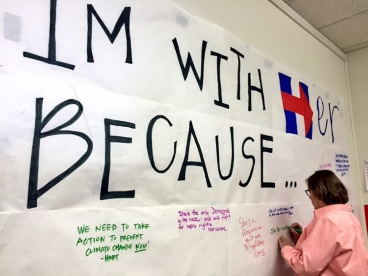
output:
[[364,160],[368,159],[368,48],[363,48],[347,54],[351,105],[354,118],[354,130],[357,141],[357,156],[359,166],[359,188],[363,203],[368,204],[368,192],[365,185]]

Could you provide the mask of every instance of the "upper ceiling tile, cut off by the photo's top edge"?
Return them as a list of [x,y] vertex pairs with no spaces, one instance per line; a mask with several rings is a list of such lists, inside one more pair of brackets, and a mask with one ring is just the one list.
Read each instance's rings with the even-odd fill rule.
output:
[[368,0],[290,0],[287,3],[317,29],[368,10]]

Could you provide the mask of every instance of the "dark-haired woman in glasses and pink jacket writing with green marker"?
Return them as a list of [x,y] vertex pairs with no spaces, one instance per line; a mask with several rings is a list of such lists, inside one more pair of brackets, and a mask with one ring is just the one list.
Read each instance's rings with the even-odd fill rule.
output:
[[[315,218],[302,231],[293,223],[293,244],[284,236],[278,239],[281,254],[296,275],[368,276],[368,253],[362,226],[345,205],[347,190],[329,170],[316,171],[307,179],[305,192],[315,207]],[[301,232],[301,231],[298,231]]]

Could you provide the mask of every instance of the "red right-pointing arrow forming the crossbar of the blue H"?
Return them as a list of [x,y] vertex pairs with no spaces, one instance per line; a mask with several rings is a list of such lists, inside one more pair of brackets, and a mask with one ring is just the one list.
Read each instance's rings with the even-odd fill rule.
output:
[[304,117],[305,136],[307,136],[312,125],[313,110],[309,105],[307,95],[299,83],[300,98],[281,91],[284,110],[298,113]]

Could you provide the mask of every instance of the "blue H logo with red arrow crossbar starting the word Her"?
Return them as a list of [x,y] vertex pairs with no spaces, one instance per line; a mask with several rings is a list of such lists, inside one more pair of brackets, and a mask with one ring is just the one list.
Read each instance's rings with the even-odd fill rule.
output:
[[291,78],[279,72],[281,97],[283,101],[286,133],[298,134],[296,113],[304,117],[305,137],[312,139],[313,111],[309,104],[308,86],[299,82],[300,98],[292,95]]

